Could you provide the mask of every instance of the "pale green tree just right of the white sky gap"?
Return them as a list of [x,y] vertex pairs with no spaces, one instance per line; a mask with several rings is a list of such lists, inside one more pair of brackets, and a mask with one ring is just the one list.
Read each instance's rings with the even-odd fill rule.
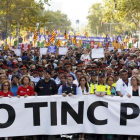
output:
[[97,29],[100,35],[104,32],[104,27],[101,26],[102,18],[103,12],[101,3],[93,4],[89,9],[87,19],[89,20],[88,24],[94,34],[97,33]]

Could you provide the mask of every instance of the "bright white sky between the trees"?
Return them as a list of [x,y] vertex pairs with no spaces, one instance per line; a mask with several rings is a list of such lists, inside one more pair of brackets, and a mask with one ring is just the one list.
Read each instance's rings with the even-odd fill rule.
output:
[[46,6],[46,10],[57,11],[68,15],[72,23],[72,27],[76,27],[76,20],[79,20],[79,28],[83,28],[87,25],[89,8],[94,3],[102,3],[102,0],[49,0],[51,6]]

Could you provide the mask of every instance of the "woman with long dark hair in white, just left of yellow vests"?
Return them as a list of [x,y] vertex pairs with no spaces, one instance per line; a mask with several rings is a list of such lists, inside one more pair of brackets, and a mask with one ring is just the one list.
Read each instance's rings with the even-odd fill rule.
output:
[[[89,94],[89,87],[87,84],[87,79],[85,76],[81,77],[79,80],[79,91],[83,94],[83,95],[88,95]],[[84,140],[85,138],[85,134],[81,134],[79,136],[79,140]]]

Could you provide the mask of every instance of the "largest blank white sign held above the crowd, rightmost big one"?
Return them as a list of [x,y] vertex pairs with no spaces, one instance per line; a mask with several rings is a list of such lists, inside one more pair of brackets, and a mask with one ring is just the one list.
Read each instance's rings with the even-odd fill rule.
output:
[[92,58],[103,58],[104,57],[104,49],[92,49]]

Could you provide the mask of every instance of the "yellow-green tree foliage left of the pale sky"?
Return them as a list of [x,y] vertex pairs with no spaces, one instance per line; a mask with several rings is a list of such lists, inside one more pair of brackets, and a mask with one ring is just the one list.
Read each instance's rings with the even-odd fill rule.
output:
[[[50,30],[71,25],[67,15],[46,11],[45,4],[48,0],[0,0],[0,30],[16,35],[17,28],[34,31],[36,23],[40,23],[39,27],[50,27]],[[50,21],[53,23],[49,24]]]

